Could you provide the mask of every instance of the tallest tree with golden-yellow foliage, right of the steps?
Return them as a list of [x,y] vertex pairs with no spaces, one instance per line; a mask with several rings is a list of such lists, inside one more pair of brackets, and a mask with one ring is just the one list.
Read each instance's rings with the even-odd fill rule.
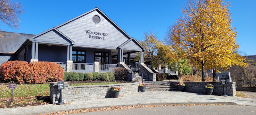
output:
[[[238,49],[232,28],[230,5],[222,0],[187,0],[182,15],[167,32],[168,42],[202,70],[246,65],[234,53]],[[220,72],[216,70],[217,72]]]

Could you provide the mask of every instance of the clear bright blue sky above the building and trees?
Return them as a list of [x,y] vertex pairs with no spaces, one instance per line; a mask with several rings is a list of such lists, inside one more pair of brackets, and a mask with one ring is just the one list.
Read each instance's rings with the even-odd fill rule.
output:
[[[100,8],[122,30],[135,39],[153,30],[163,39],[180,15],[185,0],[18,0],[24,6],[20,29],[1,24],[2,31],[39,34],[95,7]],[[256,0],[230,0],[232,26],[240,51],[256,55]]]

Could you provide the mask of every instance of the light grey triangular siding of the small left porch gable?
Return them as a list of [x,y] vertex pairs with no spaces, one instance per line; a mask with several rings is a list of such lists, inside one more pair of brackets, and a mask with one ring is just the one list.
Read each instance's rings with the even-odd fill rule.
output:
[[42,36],[34,38],[34,42],[39,43],[51,43],[51,44],[70,44],[70,41],[67,40],[64,36],[56,32],[55,30],[51,30]]

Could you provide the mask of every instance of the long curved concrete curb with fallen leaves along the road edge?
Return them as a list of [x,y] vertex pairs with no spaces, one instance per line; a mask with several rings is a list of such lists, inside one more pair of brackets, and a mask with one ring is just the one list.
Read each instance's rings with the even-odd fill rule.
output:
[[[132,104],[132,105],[183,105],[183,104],[222,104],[222,105],[238,105],[234,102],[184,102],[184,103],[144,103],[144,104]],[[120,106],[132,106],[132,105],[115,105],[115,106],[102,106],[102,107],[89,107],[89,108],[77,108],[72,110],[78,110],[78,109],[98,109],[98,108],[104,108],[104,107],[120,107]],[[48,112],[42,112],[42,113],[31,113],[31,114],[20,114],[20,115],[39,115],[39,114],[46,114],[46,113],[56,113],[60,111],[69,111],[71,109],[62,109],[62,110],[56,110],[56,111],[48,111]]]

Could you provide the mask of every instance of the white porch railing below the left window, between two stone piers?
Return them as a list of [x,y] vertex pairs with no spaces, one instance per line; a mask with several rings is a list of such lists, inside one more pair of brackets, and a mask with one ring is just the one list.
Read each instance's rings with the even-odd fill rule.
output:
[[93,72],[94,64],[93,63],[73,63],[74,72]]

